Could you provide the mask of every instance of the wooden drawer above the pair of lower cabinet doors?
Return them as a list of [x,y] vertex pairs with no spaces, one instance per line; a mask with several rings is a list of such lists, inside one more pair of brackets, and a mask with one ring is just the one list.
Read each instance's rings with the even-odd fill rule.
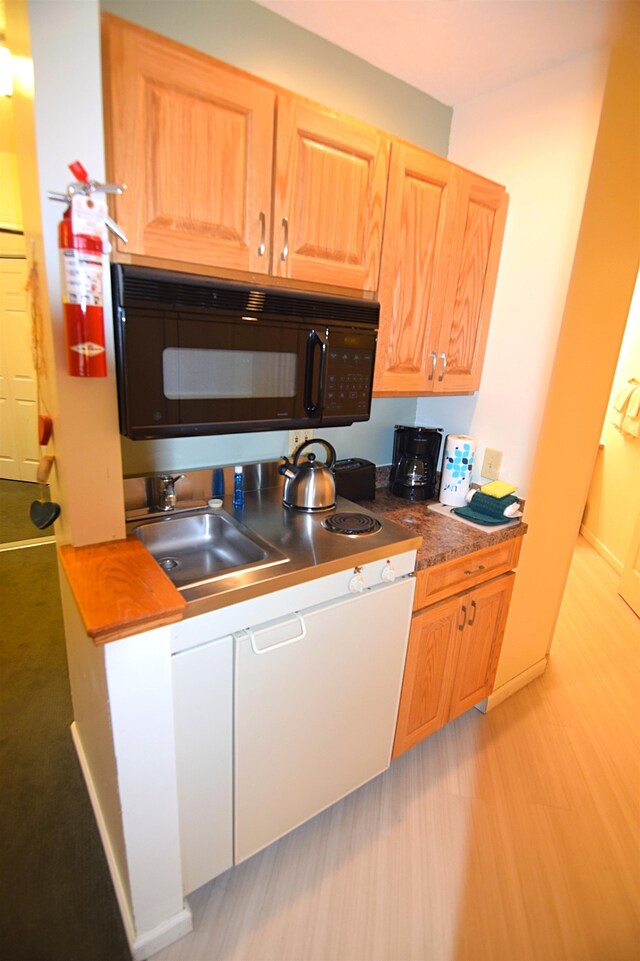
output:
[[514,537],[484,550],[474,551],[473,554],[465,554],[452,561],[418,571],[414,611],[512,570],[518,563],[521,546],[522,538]]

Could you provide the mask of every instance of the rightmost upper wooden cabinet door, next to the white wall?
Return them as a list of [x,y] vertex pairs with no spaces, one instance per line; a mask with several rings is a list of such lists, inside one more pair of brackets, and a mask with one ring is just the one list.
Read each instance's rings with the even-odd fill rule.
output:
[[468,171],[461,177],[437,351],[438,394],[470,393],[480,386],[509,200],[498,184]]

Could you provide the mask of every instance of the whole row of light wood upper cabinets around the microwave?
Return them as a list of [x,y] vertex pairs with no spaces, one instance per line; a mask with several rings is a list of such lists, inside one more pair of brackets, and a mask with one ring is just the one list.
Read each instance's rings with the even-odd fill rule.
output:
[[103,75],[116,259],[378,291],[374,396],[478,389],[503,187],[109,14]]

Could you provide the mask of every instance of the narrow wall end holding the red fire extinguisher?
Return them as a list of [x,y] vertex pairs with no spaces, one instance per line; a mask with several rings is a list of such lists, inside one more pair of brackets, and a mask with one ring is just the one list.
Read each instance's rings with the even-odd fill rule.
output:
[[[74,160],[104,179],[99,24],[97,0],[30,0],[7,7],[14,70],[24,77],[13,97],[16,152],[27,259],[29,267],[37,265],[39,279],[33,306],[43,318],[40,409],[53,419],[46,452],[55,456],[51,493],[62,506],[55,533],[60,542],[76,546],[124,536],[111,325],[105,326],[109,375],[70,377],[58,251],[64,208],[47,199],[49,190],[64,191],[73,179],[68,164]],[[107,316],[109,293],[105,290]]]

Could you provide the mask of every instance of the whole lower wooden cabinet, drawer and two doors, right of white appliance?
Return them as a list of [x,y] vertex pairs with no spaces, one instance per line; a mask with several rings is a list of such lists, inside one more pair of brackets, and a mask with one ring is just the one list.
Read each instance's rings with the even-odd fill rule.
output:
[[493,690],[521,542],[418,572],[392,757]]

